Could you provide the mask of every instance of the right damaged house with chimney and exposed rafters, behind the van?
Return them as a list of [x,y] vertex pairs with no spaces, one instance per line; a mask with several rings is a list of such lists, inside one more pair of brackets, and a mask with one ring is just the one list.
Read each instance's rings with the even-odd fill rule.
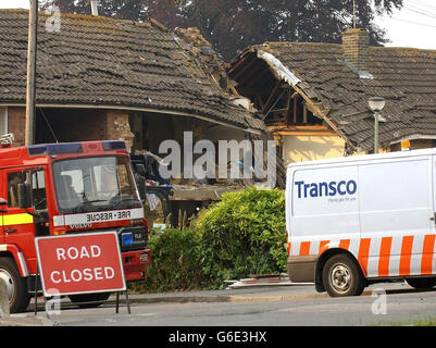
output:
[[379,123],[384,151],[436,146],[436,51],[370,47],[349,29],[342,45],[265,42],[228,66],[237,91],[262,112],[286,163],[372,152],[369,98],[386,105]]

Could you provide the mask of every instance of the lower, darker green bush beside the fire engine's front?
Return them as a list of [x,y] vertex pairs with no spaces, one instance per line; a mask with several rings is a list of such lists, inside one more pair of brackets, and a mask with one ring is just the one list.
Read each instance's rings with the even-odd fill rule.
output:
[[199,241],[199,234],[190,228],[166,228],[150,235],[147,279],[133,283],[129,288],[136,293],[198,288],[202,281]]

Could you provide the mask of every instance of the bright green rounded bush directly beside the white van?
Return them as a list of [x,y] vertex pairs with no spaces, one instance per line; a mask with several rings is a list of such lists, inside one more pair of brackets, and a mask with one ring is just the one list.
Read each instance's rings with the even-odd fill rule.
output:
[[211,288],[226,279],[286,271],[285,195],[251,187],[227,192],[195,222],[202,273]]

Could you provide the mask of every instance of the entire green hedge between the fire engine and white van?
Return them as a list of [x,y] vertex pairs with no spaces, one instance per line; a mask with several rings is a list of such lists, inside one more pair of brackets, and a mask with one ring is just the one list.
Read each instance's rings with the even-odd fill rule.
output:
[[227,192],[191,227],[150,236],[148,278],[136,291],[216,289],[228,279],[286,271],[285,195],[251,187]]

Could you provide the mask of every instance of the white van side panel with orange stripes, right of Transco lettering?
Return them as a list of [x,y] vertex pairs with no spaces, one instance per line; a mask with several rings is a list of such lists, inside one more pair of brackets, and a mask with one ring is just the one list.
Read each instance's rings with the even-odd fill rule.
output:
[[431,160],[422,156],[359,166],[361,237],[370,241],[368,277],[421,274],[422,251],[435,237]]

